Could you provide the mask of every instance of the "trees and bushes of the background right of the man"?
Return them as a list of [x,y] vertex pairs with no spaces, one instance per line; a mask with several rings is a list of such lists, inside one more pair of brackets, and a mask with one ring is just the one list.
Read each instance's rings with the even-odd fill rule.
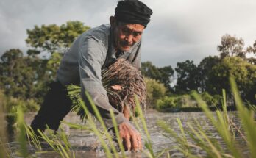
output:
[[[163,84],[154,83],[154,88],[148,87],[148,101],[160,109],[196,107],[191,97],[191,92],[196,90],[208,105],[218,105],[224,89],[232,102],[229,77],[233,76],[244,101],[256,104],[256,40],[253,46],[245,48],[242,38],[224,35],[217,51],[219,56],[205,57],[199,65],[185,60],[177,62],[176,68],[157,68],[152,62],[143,62],[143,76]],[[175,71],[177,76],[174,76]],[[171,84],[174,81],[175,85]]]

